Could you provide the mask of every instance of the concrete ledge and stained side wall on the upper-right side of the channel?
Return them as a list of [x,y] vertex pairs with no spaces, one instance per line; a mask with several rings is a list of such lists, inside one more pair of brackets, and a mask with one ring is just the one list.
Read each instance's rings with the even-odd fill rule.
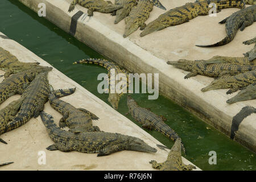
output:
[[[72,0],[19,0],[24,5],[38,12],[38,4],[46,4],[46,18],[64,31],[69,32],[71,18],[81,10],[87,10],[80,5],[72,13],[68,7]],[[184,5],[185,0],[167,1],[163,5],[167,10]],[[190,1],[193,2],[193,1]],[[246,105],[256,106],[256,101],[243,101],[228,105],[226,100],[233,97],[226,95],[225,90],[201,92],[200,89],[208,85],[213,79],[196,76],[184,80],[187,72],[167,65],[168,60],[177,59],[209,59],[213,56],[243,56],[251,46],[243,46],[242,42],[253,38],[256,23],[238,32],[233,42],[216,48],[199,48],[195,44],[209,44],[218,42],[225,36],[225,26],[218,24],[238,9],[225,9],[216,17],[199,16],[175,27],[168,27],[154,32],[143,38],[141,31],[134,32],[124,39],[124,21],[114,24],[114,17],[110,14],[94,12],[93,17],[82,15],[77,23],[75,37],[92,47],[102,55],[109,57],[123,68],[133,73],[159,73],[160,94],[177,102],[197,117],[203,119],[226,135],[230,135],[232,118]],[[146,23],[157,18],[163,10],[154,7]],[[250,150],[256,152],[256,123],[255,114],[246,118],[237,131],[235,140]]]

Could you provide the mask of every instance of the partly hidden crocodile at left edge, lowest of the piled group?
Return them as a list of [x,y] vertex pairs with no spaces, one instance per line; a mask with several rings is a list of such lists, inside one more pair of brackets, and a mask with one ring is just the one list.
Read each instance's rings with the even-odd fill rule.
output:
[[[3,133],[6,133],[6,130],[8,128],[8,123],[10,121],[13,121],[23,101],[24,101],[24,97],[21,97],[18,100],[11,102],[2,110],[0,110],[0,135]],[[0,142],[7,144],[7,142],[5,142],[5,140],[1,138],[0,138]]]

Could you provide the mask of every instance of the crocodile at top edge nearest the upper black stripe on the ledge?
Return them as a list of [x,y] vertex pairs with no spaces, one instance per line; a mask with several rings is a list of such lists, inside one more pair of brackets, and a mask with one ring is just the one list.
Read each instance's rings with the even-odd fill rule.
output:
[[98,11],[100,13],[111,13],[123,7],[121,5],[114,5],[111,1],[104,0],[73,0],[69,6],[68,12],[73,11],[77,3],[88,9],[88,16],[93,16],[93,11]]

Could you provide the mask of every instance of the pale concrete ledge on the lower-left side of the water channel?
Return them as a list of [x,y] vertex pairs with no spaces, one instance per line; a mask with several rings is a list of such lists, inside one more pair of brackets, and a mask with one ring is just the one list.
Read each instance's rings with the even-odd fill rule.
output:
[[[0,32],[1,35],[3,34]],[[36,60],[40,65],[51,67],[46,61],[14,40],[0,38],[0,44],[2,48],[12,53],[20,61],[33,62]],[[0,75],[3,73],[1,71]],[[2,80],[3,78],[1,78]],[[41,118],[38,117],[36,119],[32,118],[26,125],[18,129],[1,135],[1,138],[8,143],[7,145],[2,144],[0,147],[1,162],[14,162],[9,166],[1,167],[2,170],[153,170],[151,164],[148,163],[150,160],[154,159],[159,162],[166,160],[168,152],[156,147],[156,144],[161,144],[158,140],[88,92],[81,85],[55,68],[49,72],[48,80],[54,89],[76,87],[74,94],[63,97],[61,100],[67,101],[76,107],[83,107],[96,114],[100,119],[93,121],[93,125],[99,126],[102,131],[141,138],[150,146],[157,148],[158,152],[150,154],[137,151],[121,151],[108,156],[97,157],[96,154],[84,154],[76,151],[47,151],[46,147],[53,142],[49,138]],[[10,97],[0,105],[0,109],[19,97],[18,95]],[[53,115],[55,122],[58,122],[62,117],[61,114],[52,109],[49,102],[45,105],[44,111]],[[38,164],[39,151],[46,152],[46,165]],[[185,158],[183,158],[183,162],[192,164]],[[200,169],[197,168],[196,170]]]

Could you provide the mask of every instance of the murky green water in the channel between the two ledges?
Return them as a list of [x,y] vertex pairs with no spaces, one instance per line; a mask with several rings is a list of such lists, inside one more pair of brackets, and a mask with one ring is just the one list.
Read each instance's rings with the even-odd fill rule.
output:
[[[109,104],[108,94],[97,92],[97,85],[100,82],[97,81],[97,76],[100,73],[106,73],[106,70],[96,65],[72,64],[86,57],[104,58],[104,56],[60,30],[48,20],[40,18],[34,11],[16,0],[1,0],[0,7],[1,32],[48,61],[53,67]],[[147,94],[133,94],[133,98],[142,107],[149,107],[154,113],[162,114],[168,119],[168,125],[183,140],[187,150],[185,158],[201,169],[256,170],[253,152],[214,130],[174,102],[162,96],[159,96],[158,100],[147,100]],[[118,111],[123,115],[127,113],[126,95],[121,98]],[[134,121],[130,115],[126,117]],[[174,144],[157,131],[146,131],[169,148]],[[209,151],[217,152],[216,165],[208,163]]]

